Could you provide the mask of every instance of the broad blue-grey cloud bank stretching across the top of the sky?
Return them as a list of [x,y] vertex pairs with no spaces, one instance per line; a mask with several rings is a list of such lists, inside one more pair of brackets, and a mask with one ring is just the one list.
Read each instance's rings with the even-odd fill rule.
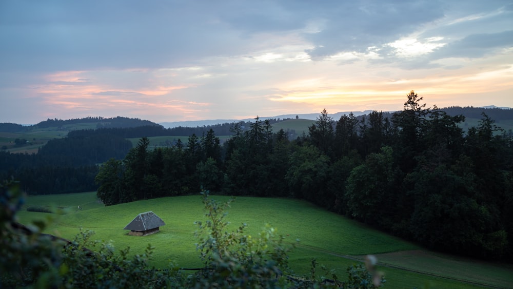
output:
[[[3,3],[6,69],[163,68],[302,42],[312,59],[396,40],[443,15],[436,1]],[[274,42],[274,43],[273,43]]]

